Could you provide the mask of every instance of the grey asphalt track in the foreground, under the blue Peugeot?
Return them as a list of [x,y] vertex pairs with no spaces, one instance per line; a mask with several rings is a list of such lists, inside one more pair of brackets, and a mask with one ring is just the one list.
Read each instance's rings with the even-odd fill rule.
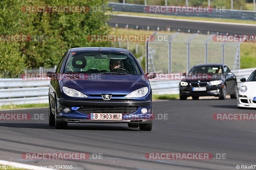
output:
[[[35,166],[72,165],[84,169],[236,169],[255,165],[255,120],[214,120],[215,113],[255,113],[238,109],[236,99],[153,102],[152,131],[127,124],[48,125],[48,108],[1,111],[42,120],[1,120],[0,159]],[[44,116],[44,117],[42,117]],[[165,117],[163,119],[163,117]],[[88,153],[86,160],[24,159],[23,153]],[[207,160],[146,159],[147,153],[211,153]],[[102,159],[96,158],[98,154]],[[217,159],[223,155],[224,159]],[[218,157],[220,158],[220,157]]]

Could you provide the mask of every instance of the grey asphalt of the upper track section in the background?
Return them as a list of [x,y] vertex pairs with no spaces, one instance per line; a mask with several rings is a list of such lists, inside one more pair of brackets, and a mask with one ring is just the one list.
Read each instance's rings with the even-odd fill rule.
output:
[[171,27],[180,29],[191,29],[200,31],[213,31],[223,33],[234,33],[234,34],[245,34],[254,35],[256,26],[250,24],[220,24],[220,23],[207,23],[205,21],[188,21],[188,20],[172,20],[168,18],[157,18],[156,17],[143,17],[143,16],[126,16],[119,15],[114,16],[110,19],[109,23],[113,24],[128,24],[128,25],[140,25],[140,26],[155,26],[155,27]]

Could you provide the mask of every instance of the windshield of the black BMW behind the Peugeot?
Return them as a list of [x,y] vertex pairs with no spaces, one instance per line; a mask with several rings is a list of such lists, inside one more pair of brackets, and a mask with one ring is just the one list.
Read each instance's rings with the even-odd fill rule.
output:
[[188,73],[222,74],[222,69],[221,66],[200,66],[193,67]]

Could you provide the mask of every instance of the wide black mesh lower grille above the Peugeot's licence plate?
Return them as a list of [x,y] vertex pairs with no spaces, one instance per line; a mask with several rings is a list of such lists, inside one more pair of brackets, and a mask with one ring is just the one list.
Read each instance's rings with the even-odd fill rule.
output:
[[138,110],[137,106],[84,106],[77,109],[80,113],[134,113]]

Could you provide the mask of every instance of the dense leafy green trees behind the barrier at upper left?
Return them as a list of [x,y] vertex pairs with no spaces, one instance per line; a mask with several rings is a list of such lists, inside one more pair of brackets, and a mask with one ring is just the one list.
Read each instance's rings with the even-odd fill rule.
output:
[[[2,0],[0,36],[25,35],[30,41],[0,40],[0,77],[18,77],[25,68],[53,67],[58,64],[68,48],[98,47],[99,42],[91,42],[86,38],[87,35],[109,33],[110,27],[106,23],[111,16],[105,14],[108,10],[107,2],[107,0]],[[38,13],[27,12],[25,6],[87,6],[91,11]],[[101,42],[101,46],[108,47],[109,43]]]

